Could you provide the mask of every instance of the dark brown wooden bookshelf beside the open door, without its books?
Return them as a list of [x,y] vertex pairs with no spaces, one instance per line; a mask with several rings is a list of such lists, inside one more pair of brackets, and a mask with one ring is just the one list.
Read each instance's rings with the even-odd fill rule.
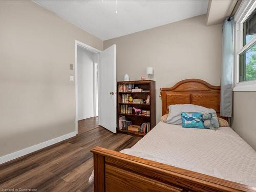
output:
[[[127,84],[134,84],[134,87],[138,87],[142,90],[146,90],[149,92],[131,92],[131,90],[125,92],[121,92],[119,90],[119,86],[126,86]],[[131,103],[131,102],[123,102],[122,95],[131,94],[133,99],[143,99],[145,101],[147,96],[150,95],[150,103]],[[135,111],[132,110],[132,114],[127,114],[121,112],[122,105],[127,105],[131,107],[135,107],[141,110],[150,111],[150,116],[136,115]],[[143,132],[135,132],[126,129],[119,129],[119,117],[125,116],[126,120],[132,121],[134,125],[141,125],[144,122],[149,122],[151,130],[156,125],[156,88],[155,81],[153,80],[138,80],[138,81],[118,81],[117,82],[117,119],[118,119],[118,133],[124,133],[129,135],[135,135],[143,137],[146,133]]]

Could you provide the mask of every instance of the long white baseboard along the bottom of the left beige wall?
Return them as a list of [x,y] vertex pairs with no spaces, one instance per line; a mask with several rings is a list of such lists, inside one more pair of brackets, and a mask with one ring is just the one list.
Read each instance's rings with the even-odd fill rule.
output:
[[11,160],[16,159],[18,157],[22,157],[24,155],[30,154],[32,152],[40,150],[41,148],[45,148],[47,146],[53,145],[55,143],[58,143],[60,141],[65,140],[65,139],[69,139],[71,137],[74,137],[75,135],[76,135],[76,132],[68,133],[66,135],[62,135],[60,137],[57,137],[57,138],[54,138],[54,139],[51,139],[51,140],[33,145],[33,146],[30,146],[28,148],[24,148],[23,150],[19,150],[17,152],[2,156],[2,157],[0,157],[0,164],[5,163],[7,161],[11,161]]

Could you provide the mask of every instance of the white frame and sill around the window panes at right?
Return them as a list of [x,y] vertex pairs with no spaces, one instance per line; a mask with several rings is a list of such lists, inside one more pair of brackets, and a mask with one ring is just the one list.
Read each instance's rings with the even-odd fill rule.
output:
[[250,47],[254,42],[256,42],[256,37],[251,39],[245,46],[243,46],[243,23],[250,16],[252,11],[256,8],[256,1],[243,1],[234,15],[235,22],[235,87],[233,91],[256,91],[256,80],[248,80],[239,82],[239,54],[244,52],[248,47]]

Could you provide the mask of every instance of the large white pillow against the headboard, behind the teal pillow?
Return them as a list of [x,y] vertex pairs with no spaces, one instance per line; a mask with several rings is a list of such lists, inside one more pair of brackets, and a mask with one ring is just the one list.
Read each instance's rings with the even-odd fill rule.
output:
[[[179,124],[181,125],[181,113],[211,113],[212,118],[216,118],[217,122],[218,117],[216,111],[214,109],[208,109],[203,106],[195,105],[195,104],[171,104],[168,106],[169,114],[166,119],[166,123],[169,124]],[[219,124],[218,124],[219,127]]]

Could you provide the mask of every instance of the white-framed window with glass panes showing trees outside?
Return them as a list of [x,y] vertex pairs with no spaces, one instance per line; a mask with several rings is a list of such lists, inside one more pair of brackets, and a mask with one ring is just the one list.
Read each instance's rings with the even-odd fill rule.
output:
[[[256,91],[256,1],[243,1],[236,15],[236,87]],[[234,91],[243,91],[240,87]],[[240,90],[241,89],[241,90]]]

